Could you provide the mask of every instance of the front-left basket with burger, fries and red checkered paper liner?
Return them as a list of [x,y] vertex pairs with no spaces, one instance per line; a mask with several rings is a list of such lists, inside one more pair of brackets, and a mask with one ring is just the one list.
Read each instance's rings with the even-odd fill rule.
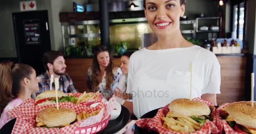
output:
[[56,103],[36,105],[30,98],[9,111],[7,118],[16,118],[13,134],[94,134],[107,126],[116,103],[113,98],[96,107],[62,102],[58,110]]

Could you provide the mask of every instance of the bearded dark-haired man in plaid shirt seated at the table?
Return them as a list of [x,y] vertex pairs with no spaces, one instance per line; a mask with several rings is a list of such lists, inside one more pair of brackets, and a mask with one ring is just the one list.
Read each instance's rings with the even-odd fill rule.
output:
[[[64,93],[78,93],[69,75],[66,73],[66,64],[62,52],[48,51],[43,55],[43,66],[47,70],[44,74],[37,76],[39,80],[39,91],[32,95],[35,98],[38,94],[50,90],[51,75],[54,79],[59,78],[59,90]],[[55,90],[54,82],[52,89]]]

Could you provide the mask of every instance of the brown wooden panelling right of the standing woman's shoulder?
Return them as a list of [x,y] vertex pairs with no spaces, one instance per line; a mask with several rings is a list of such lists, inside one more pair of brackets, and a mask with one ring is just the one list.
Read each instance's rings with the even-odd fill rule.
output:
[[246,57],[219,56],[221,65],[221,94],[217,95],[217,103],[244,100]]

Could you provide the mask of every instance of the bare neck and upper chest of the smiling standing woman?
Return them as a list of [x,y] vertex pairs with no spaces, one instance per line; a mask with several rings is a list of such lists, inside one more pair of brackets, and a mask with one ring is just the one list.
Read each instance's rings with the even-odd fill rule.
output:
[[158,40],[155,43],[154,49],[171,49],[171,48],[179,48],[184,46],[185,39],[179,33],[174,33],[175,35],[169,36],[157,36]]

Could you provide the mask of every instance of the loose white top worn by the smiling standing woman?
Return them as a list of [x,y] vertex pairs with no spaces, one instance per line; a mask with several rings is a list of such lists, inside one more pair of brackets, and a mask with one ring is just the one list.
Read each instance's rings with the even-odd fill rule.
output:
[[131,55],[126,92],[133,95],[137,118],[176,98],[189,98],[189,62],[193,63],[192,98],[220,93],[220,64],[215,54],[200,46],[144,48]]

